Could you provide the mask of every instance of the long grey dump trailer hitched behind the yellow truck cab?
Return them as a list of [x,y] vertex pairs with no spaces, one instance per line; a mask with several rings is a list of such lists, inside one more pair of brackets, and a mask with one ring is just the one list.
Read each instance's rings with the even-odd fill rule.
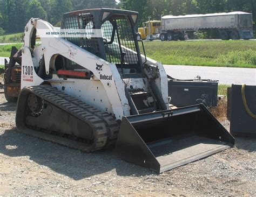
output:
[[[252,14],[238,11],[206,15],[163,16],[161,17],[159,38],[162,41],[184,40],[186,32],[207,29],[218,29],[220,38],[223,40],[251,39],[253,38]],[[152,32],[151,34],[156,33]],[[147,37],[152,36],[147,35]]]

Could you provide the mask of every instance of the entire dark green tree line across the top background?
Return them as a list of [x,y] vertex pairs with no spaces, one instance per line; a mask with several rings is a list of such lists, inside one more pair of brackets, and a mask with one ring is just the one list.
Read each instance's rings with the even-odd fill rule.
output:
[[63,13],[91,8],[138,11],[138,26],[163,15],[245,11],[253,13],[256,29],[255,0],[0,0],[0,34],[22,32],[31,17],[59,26]]

